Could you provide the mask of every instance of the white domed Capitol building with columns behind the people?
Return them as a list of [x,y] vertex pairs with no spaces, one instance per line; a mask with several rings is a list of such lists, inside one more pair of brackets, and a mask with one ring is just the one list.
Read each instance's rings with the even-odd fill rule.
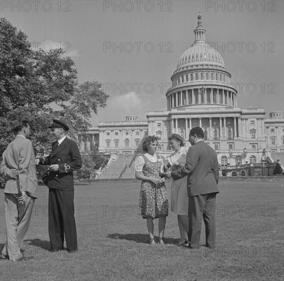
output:
[[[281,111],[265,118],[263,108],[240,108],[237,91],[222,56],[205,41],[201,14],[195,41],[180,57],[167,90],[166,111],[149,111],[147,121],[126,116],[124,122],[100,122],[89,133],[87,149],[110,158],[141,152],[143,138],[156,135],[159,153],[172,153],[168,137],[180,134],[187,141],[190,129],[204,130],[205,142],[214,148],[221,165],[239,165],[283,158],[284,122]],[[84,149],[84,144],[81,144]],[[282,156],[281,156],[282,155]],[[130,155],[128,156],[130,158]]]

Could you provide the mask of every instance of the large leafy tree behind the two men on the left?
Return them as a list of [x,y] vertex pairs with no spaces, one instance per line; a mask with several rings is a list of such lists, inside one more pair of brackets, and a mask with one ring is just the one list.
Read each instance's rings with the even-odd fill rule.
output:
[[77,68],[62,49],[33,51],[27,35],[0,20],[0,155],[14,138],[11,122],[30,121],[35,152],[49,153],[52,119],[65,121],[70,136],[89,138],[91,112],[105,107],[108,95],[97,81],[78,83]]

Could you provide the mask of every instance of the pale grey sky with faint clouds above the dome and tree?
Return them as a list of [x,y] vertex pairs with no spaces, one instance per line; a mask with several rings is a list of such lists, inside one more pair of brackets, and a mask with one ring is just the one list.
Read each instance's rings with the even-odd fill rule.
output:
[[223,57],[241,108],[284,111],[283,1],[1,1],[1,17],[32,48],[65,50],[79,82],[96,80],[109,95],[91,124],[147,120],[166,110],[165,92],[181,55],[205,38]]

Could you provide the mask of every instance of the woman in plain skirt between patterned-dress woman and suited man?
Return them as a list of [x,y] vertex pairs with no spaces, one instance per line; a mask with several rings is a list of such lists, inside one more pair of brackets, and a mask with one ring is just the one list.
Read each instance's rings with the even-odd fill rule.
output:
[[[179,134],[173,134],[169,137],[172,149],[175,151],[166,157],[174,171],[178,167],[183,167],[186,163],[187,150],[184,147],[182,137]],[[166,174],[167,176],[169,173]],[[183,177],[172,182],[171,210],[178,217],[178,227],[180,232],[179,244],[187,244],[188,238],[188,197],[187,197],[187,177]]]

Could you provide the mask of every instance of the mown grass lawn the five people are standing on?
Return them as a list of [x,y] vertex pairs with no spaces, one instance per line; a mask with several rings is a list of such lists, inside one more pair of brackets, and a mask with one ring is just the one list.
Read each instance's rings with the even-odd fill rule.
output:
[[[170,182],[166,183],[170,199]],[[23,254],[27,262],[0,262],[6,280],[282,280],[283,182],[221,182],[217,195],[217,247],[177,246],[177,216],[170,212],[165,245],[148,244],[138,215],[140,182],[77,185],[79,251],[49,252],[48,189],[39,186]],[[6,241],[0,191],[1,248]],[[170,200],[169,200],[170,201]],[[155,235],[157,236],[157,220]],[[204,224],[201,242],[205,243]]]

